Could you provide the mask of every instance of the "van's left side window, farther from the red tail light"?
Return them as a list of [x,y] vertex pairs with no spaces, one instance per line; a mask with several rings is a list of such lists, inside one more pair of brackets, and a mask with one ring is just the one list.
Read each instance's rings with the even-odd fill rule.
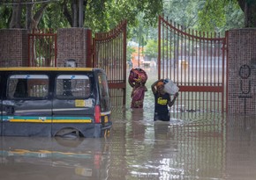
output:
[[46,75],[13,75],[8,79],[8,97],[48,97],[49,77]]

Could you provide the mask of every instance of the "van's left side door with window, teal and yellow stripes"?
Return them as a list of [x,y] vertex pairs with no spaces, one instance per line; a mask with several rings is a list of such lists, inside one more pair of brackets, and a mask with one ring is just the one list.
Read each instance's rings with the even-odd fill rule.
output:
[[48,75],[12,73],[3,99],[3,134],[50,136],[51,107]]

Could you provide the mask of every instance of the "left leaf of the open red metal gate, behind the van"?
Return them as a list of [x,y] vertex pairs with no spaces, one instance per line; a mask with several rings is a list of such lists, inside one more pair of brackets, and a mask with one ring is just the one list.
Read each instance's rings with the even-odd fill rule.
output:
[[125,104],[126,94],[126,21],[110,32],[96,33],[93,63],[105,69],[111,96],[111,104]]

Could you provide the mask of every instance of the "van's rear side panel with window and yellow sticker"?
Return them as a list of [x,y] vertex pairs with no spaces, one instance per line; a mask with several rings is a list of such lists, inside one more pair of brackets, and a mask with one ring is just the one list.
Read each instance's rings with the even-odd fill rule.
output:
[[91,88],[91,79],[87,74],[66,72],[56,76],[52,135],[83,132],[86,124],[94,121],[95,101]]

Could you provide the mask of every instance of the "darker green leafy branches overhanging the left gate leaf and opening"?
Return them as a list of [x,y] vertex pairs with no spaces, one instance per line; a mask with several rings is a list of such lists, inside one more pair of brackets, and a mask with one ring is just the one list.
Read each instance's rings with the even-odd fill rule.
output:
[[[102,4],[100,10],[99,4],[95,6],[94,2],[97,1],[88,3],[85,18],[85,26],[94,32],[108,32],[124,19],[130,29],[142,21],[147,26],[157,25],[158,14],[162,12],[162,0],[99,1]],[[138,20],[139,14],[144,14],[142,21]]]

